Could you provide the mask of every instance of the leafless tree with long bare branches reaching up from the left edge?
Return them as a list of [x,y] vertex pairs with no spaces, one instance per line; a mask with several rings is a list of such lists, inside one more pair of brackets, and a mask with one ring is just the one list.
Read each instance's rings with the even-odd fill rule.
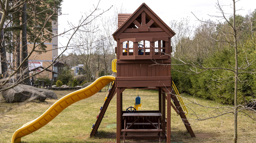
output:
[[[24,3],[22,3],[22,4],[24,4]],[[19,6],[21,6],[22,4],[19,4]],[[98,4],[99,4],[99,3],[98,3]],[[67,29],[66,31],[64,31],[63,33],[60,33],[60,34],[51,33],[52,36],[50,36],[50,37],[48,37],[48,38],[46,38],[46,39],[41,39],[41,41],[38,41],[38,39],[41,38],[42,33],[44,33],[44,32],[50,32],[50,31],[47,31],[47,29],[48,29],[49,27],[46,27],[46,24],[43,24],[43,26],[40,27],[40,29],[39,29],[39,28],[37,28],[36,22],[34,22],[34,25],[33,25],[33,26],[34,26],[34,27],[33,27],[33,31],[34,31],[33,37],[34,37],[34,38],[33,38],[33,41],[32,41],[32,43],[34,43],[34,44],[33,44],[33,46],[31,47],[31,49],[29,50],[28,56],[24,57],[24,59],[21,61],[20,65],[19,65],[18,67],[16,67],[15,69],[14,69],[12,66],[9,66],[9,69],[8,69],[8,70],[11,70],[12,73],[11,73],[10,75],[7,75],[7,76],[4,77],[3,79],[1,79],[2,84],[0,85],[0,87],[3,87],[6,83],[8,83],[9,80],[10,80],[11,78],[13,78],[13,77],[15,76],[15,74],[17,74],[17,73],[19,72],[19,70],[21,69],[21,67],[24,65],[25,61],[27,61],[28,59],[31,59],[33,55],[38,55],[38,54],[40,54],[40,52],[48,52],[48,51],[53,50],[53,49],[51,49],[51,50],[44,50],[44,49],[40,48],[40,44],[42,44],[42,43],[44,43],[44,42],[46,42],[46,41],[48,41],[48,40],[51,40],[53,37],[57,37],[57,36],[61,36],[61,35],[68,34],[68,35],[66,35],[66,36],[69,36],[69,40],[68,40],[67,45],[65,45],[65,46],[63,46],[63,47],[59,47],[59,48],[62,49],[61,53],[59,54],[59,56],[55,57],[55,59],[53,60],[53,62],[49,63],[49,65],[46,67],[46,69],[52,67],[53,63],[56,61],[56,59],[58,59],[58,58],[60,57],[60,55],[62,55],[66,50],[72,49],[72,48],[74,47],[74,45],[71,45],[71,44],[70,44],[70,41],[71,41],[72,39],[74,39],[75,34],[76,34],[78,31],[81,30],[82,26],[90,25],[90,24],[94,23],[94,21],[96,20],[97,17],[99,17],[99,16],[102,15],[104,12],[106,12],[107,10],[109,10],[109,9],[107,9],[107,10],[105,10],[105,11],[104,11],[104,10],[101,11],[101,10],[98,8],[98,4],[93,8],[93,10],[92,10],[89,14],[87,14],[85,17],[83,17],[83,18],[79,21],[78,25],[75,25],[75,26],[73,25],[73,26],[70,27],[70,29]],[[99,11],[101,11],[101,12],[99,12]],[[34,17],[36,17],[36,15],[38,14],[37,11],[36,11],[36,9],[34,9],[32,12],[33,12],[32,14],[34,15]],[[55,16],[57,12],[58,12],[57,10],[54,11],[51,15],[49,15],[49,16],[46,18],[45,21],[50,21],[50,20],[51,20],[51,17]],[[34,18],[33,20],[36,21],[36,18]],[[46,22],[45,22],[45,23],[46,23]],[[51,28],[51,27],[50,27],[50,28]],[[38,30],[37,30],[37,29],[38,29]],[[91,31],[87,31],[87,30],[86,30],[85,32],[91,33]],[[27,36],[27,37],[28,37],[28,36]],[[80,39],[80,40],[82,40],[82,39]],[[16,42],[16,41],[13,41],[12,43],[14,43],[14,42]],[[12,44],[12,43],[9,43],[9,44]],[[16,54],[13,53],[13,55],[16,55]],[[32,60],[33,60],[33,59],[32,59]],[[4,60],[2,60],[1,62],[3,62],[3,61],[4,61]],[[12,61],[11,61],[11,62],[12,62]],[[11,63],[9,63],[9,64],[11,65]],[[10,87],[8,87],[8,88],[0,89],[0,91],[7,90],[7,89],[10,89],[10,88],[12,88],[12,87],[14,87],[14,86],[17,86],[18,84],[22,83],[24,80],[27,80],[27,79],[29,79],[30,77],[35,76],[35,75],[37,75],[37,74],[40,74],[41,72],[45,71],[46,69],[44,69],[44,70],[42,70],[42,71],[40,71],[40,72],[37,72],[37,73],[35,73],[35,74],[29,75],[29,76],[24,76],[23,79],[20,79],[20,80],[17,80],[16,82],[14,82],[14,83],[12,84],[12,86],[10,86]],[[28,67],[27,67],[25,71],[28,71],[28,70],[29,70],[29,69],[28,69]],[[20,73],[20,75],[22,75],[22,74],[24,74],[24,72]]]

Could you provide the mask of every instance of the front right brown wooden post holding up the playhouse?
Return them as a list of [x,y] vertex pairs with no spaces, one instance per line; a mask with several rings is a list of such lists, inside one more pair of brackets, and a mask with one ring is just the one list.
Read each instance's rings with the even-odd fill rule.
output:
[[171,143],[171,87],[167,87],[167,140],[166,143]]

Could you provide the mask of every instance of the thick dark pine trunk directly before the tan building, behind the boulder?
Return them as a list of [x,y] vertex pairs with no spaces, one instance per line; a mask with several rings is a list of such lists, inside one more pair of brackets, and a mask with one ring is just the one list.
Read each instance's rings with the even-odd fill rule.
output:
[[[22,71],[23,71],[23,78],[27,78],[29,76],[29,61],[26,59],[28,56],[28,46],[27,46],[27,2],[24,3],[23,9],[22,9],[22,47],[21,47],[21,61],[24,61],[24,64],[22,65]],[[30,85],[29,78],[24,80],[24,84]]]

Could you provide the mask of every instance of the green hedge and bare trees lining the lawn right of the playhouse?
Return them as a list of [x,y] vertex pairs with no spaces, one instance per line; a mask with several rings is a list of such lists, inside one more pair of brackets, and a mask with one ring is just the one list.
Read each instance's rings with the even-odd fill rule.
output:
[[[213,17],[219,21],[197,18],[200,25],[195,27],[187,19],[172,21],[178,35],[172,39],[174,53],[170,55],[173,81],[182,92],[222,103],[208,107],[217,115],[206,113],[204,119],[234,115],[234,143],[238,113],[256,120],[246,113],[256,112],[256,9],[246,16],[238,15],[237,2],[225,6],[217,1],[220,15]],[[233,13],[225,13],[225,8],[232,8]]]

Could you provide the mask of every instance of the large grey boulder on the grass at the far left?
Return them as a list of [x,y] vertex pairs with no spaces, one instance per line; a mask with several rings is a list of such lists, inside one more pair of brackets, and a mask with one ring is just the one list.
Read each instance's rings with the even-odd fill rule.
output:
[[[6,84],[2,89],[10,86],[11,84]],[[57,95],[49,89],[36,88],[21,84],[6,91],[2,91],[1,93],[5,101],[8,103],[24,102],[26,100],[31,101],[34,99],[43,102],[46,98],[57,99]]]

